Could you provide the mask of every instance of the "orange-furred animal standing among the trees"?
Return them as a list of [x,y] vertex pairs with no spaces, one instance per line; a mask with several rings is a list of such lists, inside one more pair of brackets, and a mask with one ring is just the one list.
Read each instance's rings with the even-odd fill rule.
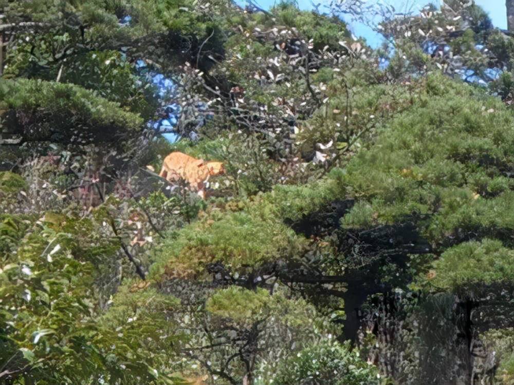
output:
[[198,195],[205,199],[205,185],[210,176],[223,174],[225,169],[221,162],[205,162],[182,152],[172,152],[162,163],[159,176],[169,182],[185,180],[189,187],[198,191]]

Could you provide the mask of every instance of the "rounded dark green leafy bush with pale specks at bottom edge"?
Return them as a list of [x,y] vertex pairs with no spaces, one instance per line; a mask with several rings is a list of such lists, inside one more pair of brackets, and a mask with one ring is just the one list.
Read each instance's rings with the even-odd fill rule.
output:
[[377,369],[366,364],[350,344],[324,341],[281,363],[273,383],[331,383],[334,385],[383,384]]

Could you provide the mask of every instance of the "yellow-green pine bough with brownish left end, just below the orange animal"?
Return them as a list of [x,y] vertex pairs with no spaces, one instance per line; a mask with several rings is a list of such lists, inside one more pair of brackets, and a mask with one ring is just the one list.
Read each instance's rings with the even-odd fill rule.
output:
[[195,276],[209,263],[221,262],[234,271],[277,258],[291,258],[303,241],[286,225],[248,213],[213,212],[169,236],[155,254],[154,277]]

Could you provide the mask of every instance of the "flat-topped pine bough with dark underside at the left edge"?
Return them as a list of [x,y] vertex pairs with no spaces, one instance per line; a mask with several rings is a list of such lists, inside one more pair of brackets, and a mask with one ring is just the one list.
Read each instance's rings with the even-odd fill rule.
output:
[[1,81],[0,108],[4,115],[16,113],[9,129],[22,130],[27,139],[84,137],[86,141],[106,141],[113,140],[116,133],[136,132],[142,126],[138,115],[70,84]]

